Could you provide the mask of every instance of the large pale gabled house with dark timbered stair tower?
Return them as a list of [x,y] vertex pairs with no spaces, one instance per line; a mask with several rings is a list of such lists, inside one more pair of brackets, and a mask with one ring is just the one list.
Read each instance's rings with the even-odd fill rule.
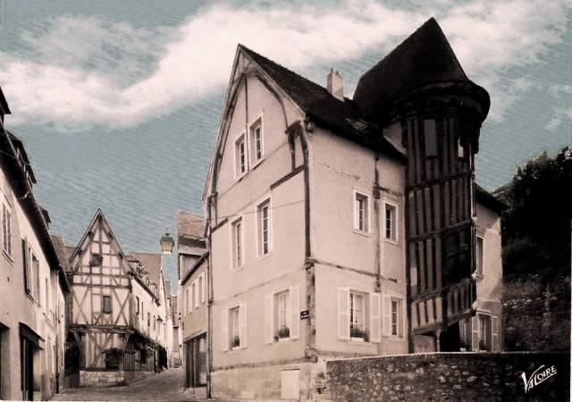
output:
[[238,46],[204,194],[214,398],[312,398],[328,359],[501,348],[487,92],[433,19],[353,99],[337,71],[326,87]]

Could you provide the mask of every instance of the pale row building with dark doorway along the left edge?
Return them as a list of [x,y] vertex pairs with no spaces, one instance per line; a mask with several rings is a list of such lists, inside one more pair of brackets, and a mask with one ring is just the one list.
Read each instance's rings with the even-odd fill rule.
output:
[[26,150],[4,127],[7,113],[0,89],[0,398],[49,399],[63,388],[69,287]]

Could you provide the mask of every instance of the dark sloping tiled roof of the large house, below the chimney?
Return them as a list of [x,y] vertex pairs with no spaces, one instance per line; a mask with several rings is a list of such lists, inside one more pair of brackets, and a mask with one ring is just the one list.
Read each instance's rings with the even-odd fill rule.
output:
[[404,159],[403,155],[383,136],[374,135],[351,99],[338,99],[326,88],[296,72],[282,67],[246,46],[239,45],[239,47],[319,126],[386,155]]

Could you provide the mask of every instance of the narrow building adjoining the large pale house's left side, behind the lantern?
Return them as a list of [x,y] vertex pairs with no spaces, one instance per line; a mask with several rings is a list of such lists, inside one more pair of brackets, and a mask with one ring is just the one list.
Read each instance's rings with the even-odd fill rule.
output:
[[177,214],[177,254],[182,361],[185,387],[207,382],[208,254],[205,218],[185,211]]

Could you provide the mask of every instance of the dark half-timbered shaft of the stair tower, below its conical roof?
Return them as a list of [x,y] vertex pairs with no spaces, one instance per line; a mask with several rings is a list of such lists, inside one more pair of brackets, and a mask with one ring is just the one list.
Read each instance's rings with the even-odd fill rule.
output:
[[475,301],[474,127],[455,110],[402,121],[414,333],[446,328]]

